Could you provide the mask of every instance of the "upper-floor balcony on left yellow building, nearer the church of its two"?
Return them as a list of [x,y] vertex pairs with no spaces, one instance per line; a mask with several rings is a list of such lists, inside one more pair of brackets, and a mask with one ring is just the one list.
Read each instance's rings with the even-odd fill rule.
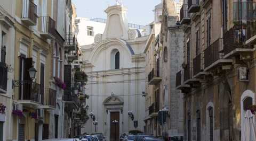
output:
[[55,39],[55,21],[50,16],[41,16],[39,18],[39,34],[47,39]]

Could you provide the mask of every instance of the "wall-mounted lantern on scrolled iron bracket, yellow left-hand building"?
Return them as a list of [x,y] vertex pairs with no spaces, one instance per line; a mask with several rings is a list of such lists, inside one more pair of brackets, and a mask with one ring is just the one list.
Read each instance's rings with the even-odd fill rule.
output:
[[35,77],[36,77],[37,70],[34,68],[34,66],[32,66],[27,71],[29,72],[29,77],[30,77],[31,80],[12,81],[12,86],[13,87],[19,87],[20,85],[23,85],[23,84],[32,84],[33,83],[33,81],[35,80]]

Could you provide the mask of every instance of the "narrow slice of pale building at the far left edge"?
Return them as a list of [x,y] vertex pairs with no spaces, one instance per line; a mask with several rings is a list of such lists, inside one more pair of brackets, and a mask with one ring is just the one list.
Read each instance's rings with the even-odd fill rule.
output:
[[0,140],[12,137],[15,1],[0,3]]

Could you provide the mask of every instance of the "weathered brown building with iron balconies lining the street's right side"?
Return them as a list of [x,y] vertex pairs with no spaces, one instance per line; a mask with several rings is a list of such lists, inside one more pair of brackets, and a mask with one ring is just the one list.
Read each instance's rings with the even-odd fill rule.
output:
[[[180,11],[185,140],[241,140],[255,104],[252,1],[186,0]],[[243,7],[243,8],[241,8]]]

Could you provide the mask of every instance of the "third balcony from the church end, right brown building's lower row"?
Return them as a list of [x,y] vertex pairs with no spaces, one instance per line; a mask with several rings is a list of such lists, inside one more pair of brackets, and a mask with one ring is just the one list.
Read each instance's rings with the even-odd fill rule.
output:
[[193,59],[193,78],[202,80],[205,75],[211,75],[211,73],[204,72],[203,54],[199,54]]

